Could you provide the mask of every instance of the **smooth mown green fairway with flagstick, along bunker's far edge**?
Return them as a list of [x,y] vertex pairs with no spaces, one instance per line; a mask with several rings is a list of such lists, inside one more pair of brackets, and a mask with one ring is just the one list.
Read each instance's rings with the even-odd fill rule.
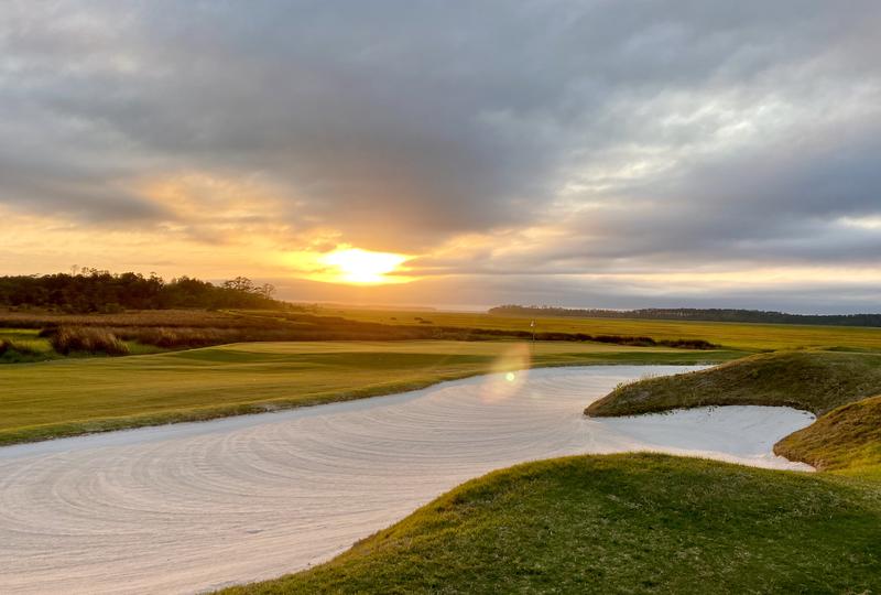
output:
[[0,367],[0,444],[387,394],[488,371],[733,351],[512,342],[249,343]]

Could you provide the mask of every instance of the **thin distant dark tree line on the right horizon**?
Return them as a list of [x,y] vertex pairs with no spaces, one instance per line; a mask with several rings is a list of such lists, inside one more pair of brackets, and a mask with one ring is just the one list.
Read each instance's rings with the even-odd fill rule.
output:
[[881,326],[881,314],[787,314],[762,310],[650,307],[642,310],[568,309],[555,306],[502,305],[490,314],[521,316],[572,316],[583,318],[642,318],[766,324],[817,324],[828,326]]

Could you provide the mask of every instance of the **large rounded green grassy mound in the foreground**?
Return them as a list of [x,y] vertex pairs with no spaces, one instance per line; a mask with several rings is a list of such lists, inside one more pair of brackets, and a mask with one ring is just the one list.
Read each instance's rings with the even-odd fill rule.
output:
[[873,593],[868,484],[664,455],[492,473],[257,593]]

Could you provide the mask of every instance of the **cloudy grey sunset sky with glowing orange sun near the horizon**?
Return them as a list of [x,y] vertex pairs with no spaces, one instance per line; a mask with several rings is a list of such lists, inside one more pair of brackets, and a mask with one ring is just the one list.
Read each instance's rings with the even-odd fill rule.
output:
[[0,274],[881,311],[881,2],[0,4]]

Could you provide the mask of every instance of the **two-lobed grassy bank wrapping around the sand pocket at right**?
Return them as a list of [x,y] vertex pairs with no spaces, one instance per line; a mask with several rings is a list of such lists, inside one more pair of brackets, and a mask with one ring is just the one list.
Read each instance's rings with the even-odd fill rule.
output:
[[814,412],[811,426],[774,452],[818,469],[881,475],[881,355],[840,351],[763,354],[708,370],[649,378],[590,404],[594,416],[676,408],[761,404]]

